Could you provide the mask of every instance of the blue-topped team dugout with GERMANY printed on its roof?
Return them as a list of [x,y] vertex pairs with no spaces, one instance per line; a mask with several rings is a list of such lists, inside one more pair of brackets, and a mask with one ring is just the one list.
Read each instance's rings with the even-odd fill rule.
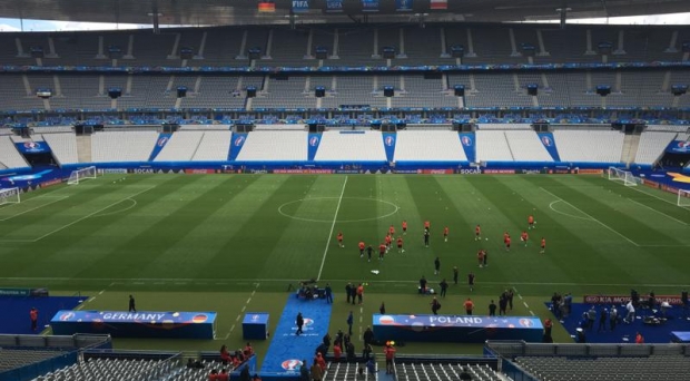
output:
[[214,339],[215,312],[58,311],[53,334],[110,334],[114,338]]

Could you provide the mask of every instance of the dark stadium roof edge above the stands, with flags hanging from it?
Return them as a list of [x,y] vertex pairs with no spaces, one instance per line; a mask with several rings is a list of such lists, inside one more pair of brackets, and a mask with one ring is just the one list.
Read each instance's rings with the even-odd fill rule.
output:
[[[275,3],[275,11],[269,6],[268,12],[259,12],[259,2]],[[337,4],[342,4],[342,11],[334,11]],[[432,4],[436,9],[432,10]],[[305,6],[308,8],[302,8]],[[260,25],[288,23],[293,7],[298,11],[295,21],[304,23],[408,22],[420,21],[421,17],[428,22],[503,22],[559,19],[561,9],[568,9],[568,19],[687,12],[688,0],[3,0],[0,18]]]

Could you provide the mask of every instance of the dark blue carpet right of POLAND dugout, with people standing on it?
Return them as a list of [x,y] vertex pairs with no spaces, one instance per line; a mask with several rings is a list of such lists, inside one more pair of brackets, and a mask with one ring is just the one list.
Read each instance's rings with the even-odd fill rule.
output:
[[[546,302],[546,307],[551,306]],[[571,336],[575,335],[575,330],[580,326],[582,314],[590,310],[592,304],[573,303],[570,316],[561,320],[561,324],[565,328]],[[635,334],[642,333],[645,343],[669,343],[671,341],[672,331],[690,331],[690,320],[683,318],[682,307],[673,306],[667,313],[667,321],[660,325],[644,324],[645,316],[652,316],[654,313],[649,309],[637,309],[634,322],[627,324],[622,321],[627,311],[624,305],[617,305],[619,314],[619,324],[611,331],[610,321],[607,320],[605,330],[599,331],[599,316],[602,307],[611,310],[611,305],[594,304],[597,311],[597,320],[594,328],[585,330],[586,342],[589,343],[634,343]],[[659,311],[657,311],[659,314]]]

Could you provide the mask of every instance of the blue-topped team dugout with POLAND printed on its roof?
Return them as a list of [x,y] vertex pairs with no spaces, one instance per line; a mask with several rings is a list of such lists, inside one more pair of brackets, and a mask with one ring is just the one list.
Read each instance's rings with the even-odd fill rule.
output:
[[483,343],[486,340],[541,342],[543,325],[534,316],[374,315],[374,335],[416,342]]

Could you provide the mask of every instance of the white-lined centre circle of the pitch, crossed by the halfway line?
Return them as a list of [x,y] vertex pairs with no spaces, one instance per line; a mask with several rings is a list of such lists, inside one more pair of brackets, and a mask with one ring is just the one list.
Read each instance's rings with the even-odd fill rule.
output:
[[[308,214],[309,212],[305,213],[306,216],[299,216],[298,215],[298,211],[299,207],[302,206],[308,206],[314,211],[314,218],[309,217]],[[338,205],[339,203],[339,208],[336,207],[336,205]],[[313,205],[309,205],[313,204]],[[383,201],[383,199],[378,199],[378,198],[367,198],[367,197],[308,197],[308,198],[300,198],[300,199],[295,199],[292,202],[287,202],[283,205],[280,205],[278,207],[278,213],[280,213],[282,215],[288,217],[288,218],[293,218],[293,219],[297,219],[297,221],[304,221],[304,222],[313,222],[313,223],[333,223],[333,214],[335,214],[336,209],[337,209],[337,216],[339,217],[341,215],[345,214],[347,215],[347,211],[357,209],[357,213],[359,213],[359,211],[376,211],[376,207],[378,206],[377,204],[383,204],[385,205],[385,209],[384,209],[384,214],[383,215],[372,215],[369,216],[363,216],[363,218],[347,218],[347,219],[341,219],[341,218],[336,218],[336,222],[338,223],[358,223],[358,222],[365,222],[365,221],[376,221],[376,219],[382,219],[385,217],[390,217],[394,214],[397,213],[397,211],[400,211],[400,206],[387,202],[387,201]],[[352,206],[352,207],[351,207]],[[324,209],[332,209],[333,213],[331,215],[329,218],[323,218],[317,215],[319,211],[324,211]],[[345,212],[344,212],[345,211]]]

